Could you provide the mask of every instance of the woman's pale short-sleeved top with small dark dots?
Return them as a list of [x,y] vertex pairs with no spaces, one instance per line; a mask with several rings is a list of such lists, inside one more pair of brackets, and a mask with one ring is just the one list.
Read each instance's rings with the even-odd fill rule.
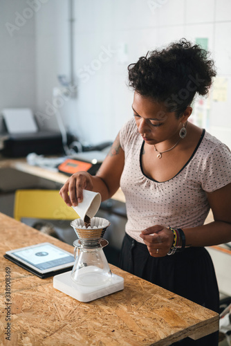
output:
[[203,225],[210,210],[206,192],[231,182],[230,149],[205,130],[182,170],[164,182],[142,172],[144,141],[133,118],[120,130],[120,145],[125,156],[120,187],[126,199],[126,232],[138,242],[142,242],[140,231],[156,224],[173,228]]

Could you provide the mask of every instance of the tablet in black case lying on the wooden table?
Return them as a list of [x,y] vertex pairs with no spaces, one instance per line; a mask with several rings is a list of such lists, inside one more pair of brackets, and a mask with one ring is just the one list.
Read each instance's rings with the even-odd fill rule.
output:
[[72,253],[50,243],[7,251],[4,257],[41,278],[71,270],[75,262]]

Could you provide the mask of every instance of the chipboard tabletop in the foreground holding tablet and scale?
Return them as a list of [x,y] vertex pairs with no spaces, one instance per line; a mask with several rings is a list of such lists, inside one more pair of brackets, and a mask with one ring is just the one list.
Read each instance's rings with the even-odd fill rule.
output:
[[[73,247],[0,213],[0,345],[171,345],[219,329],[219,315],[111,266],[124,277],[124,290],[83,303],[6,260],[6,251],[50,242]],[[6,268],[10,268],[10,325],[6,316]],[[10,326],[10,341],[6,327]]]

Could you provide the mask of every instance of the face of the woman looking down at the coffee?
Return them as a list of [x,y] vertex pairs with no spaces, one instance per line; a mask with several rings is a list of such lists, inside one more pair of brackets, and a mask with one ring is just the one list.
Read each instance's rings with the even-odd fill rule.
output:
[[165,104],[157,103],[151,98],[145,98],[134,93],[132,109],[138,131],[145,143],[154,145],[165,140],[177,140],[185,116],[176,118],[175,112],[166,111]]

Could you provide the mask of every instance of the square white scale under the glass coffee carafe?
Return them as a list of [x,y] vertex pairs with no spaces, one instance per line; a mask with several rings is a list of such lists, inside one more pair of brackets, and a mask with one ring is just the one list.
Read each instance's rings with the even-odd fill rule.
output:
[[79,300],[80,302],[91,302],[104,295],[109,295],[117,291],[124,289],[124,278],[112,273],[111,279],[96,286],[84,286],[75,284],[71,279],[71,271],[55,275],[53,277],[53,287],[70,295],[72,298]]

